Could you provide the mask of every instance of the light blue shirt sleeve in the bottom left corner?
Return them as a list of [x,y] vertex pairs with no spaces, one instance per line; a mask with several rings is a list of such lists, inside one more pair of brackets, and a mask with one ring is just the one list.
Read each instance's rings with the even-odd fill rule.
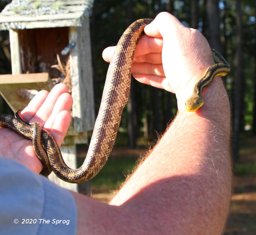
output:
[[72,194],[22,164],[0,157],[0,235],[76,231]]

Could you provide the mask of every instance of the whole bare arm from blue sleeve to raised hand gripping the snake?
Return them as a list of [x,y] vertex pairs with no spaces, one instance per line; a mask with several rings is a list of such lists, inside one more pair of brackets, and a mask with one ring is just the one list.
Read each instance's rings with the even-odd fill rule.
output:
[[[215,78],[205,89],[197,112],[182,108],[213,63],[210,46],[169,13],[158,14],[144,31],[133,76],[174,92],[180,112],[111,205],[74,193],[77,234],[221,234],[231,191],[230,110],[222,81]],[[109,61],[111,52],[103,58]]]

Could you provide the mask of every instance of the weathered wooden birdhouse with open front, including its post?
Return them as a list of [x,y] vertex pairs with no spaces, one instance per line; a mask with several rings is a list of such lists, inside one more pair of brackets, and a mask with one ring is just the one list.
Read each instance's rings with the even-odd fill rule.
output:
[[[31,98],[20,92],[50,90],[53,82],[62,80],[68,84],[73,119],[61,152],[71,168],[77,168],[76,144],[87,143],[87,131],[95,122],[88,17],[91,6],[90,0],[13,0],[0,13],[0,30],[10,32],[12,62],[12,75],[0,75],[0,93],[15,111],[26,107]],[[54,174],[49,178],[74,191],[78,187],[88,190],[63,182]]]

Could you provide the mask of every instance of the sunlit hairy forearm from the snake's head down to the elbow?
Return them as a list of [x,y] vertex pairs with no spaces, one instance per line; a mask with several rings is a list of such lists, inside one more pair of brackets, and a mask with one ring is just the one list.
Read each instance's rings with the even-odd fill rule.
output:
[[203,97],[198,112],[177,115],[112,205],[143,208],[169,234],[221,233],[231,191],[229,103],[219,78]]

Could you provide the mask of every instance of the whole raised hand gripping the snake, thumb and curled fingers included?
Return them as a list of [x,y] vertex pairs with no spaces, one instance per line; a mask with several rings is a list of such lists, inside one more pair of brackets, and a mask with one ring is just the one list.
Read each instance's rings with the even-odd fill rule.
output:
[[[134,54],[134,78],[175,93],[179,110],[185,108],[195,83],[214,64],[207,40],[167,12],[158,14],[144,32]],[[103,51],[105,61],[111,61],[114,49]]]

